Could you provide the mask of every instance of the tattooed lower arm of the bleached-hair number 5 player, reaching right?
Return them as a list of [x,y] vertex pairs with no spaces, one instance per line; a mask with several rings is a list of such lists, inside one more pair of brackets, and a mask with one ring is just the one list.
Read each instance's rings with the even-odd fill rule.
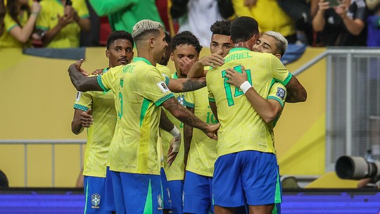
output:
[[201,119],[197,118],[196,115],[192,114],[189,110],[184,108],[184,106],[181,106],[181,104],[179,104],[173,97],[164,101],[162,106],[179,121],[202,130],[202,132],[205,132],[205,134],[212,139],[217,139],[215,133],[220,127],[219,123],[216,125],[208,125]]

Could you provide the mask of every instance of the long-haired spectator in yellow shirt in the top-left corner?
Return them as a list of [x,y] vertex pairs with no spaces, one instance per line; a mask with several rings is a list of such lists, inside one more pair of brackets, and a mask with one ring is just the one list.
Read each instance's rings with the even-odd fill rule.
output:
[[8,0],[4,17],[4,33],[0,36],[0,47],[30,47],[31,35],[34,30],[41,6],[37,1],[30,4],[29,0]]

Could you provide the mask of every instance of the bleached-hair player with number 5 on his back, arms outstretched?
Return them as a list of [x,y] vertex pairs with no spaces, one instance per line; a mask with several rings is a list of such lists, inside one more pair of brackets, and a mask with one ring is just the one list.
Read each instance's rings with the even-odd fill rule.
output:
[[[169,80],[156,69],[167,47],[163,25],[141,20],[134,25],[132,37],[138,53],[132,63],[111,68],[98,77],[84,77],[80,73],[82,61],[77,61],[68,72],[72,84],[80,91],[113,91],[118,116],[108,158],[116,213],[162,213],[156,146],[159,106],[215,139],[219,125],[207,125],[181,106],[167,87]],[[204,82],[184,79],[170,84],[177,91],[186,91]]]

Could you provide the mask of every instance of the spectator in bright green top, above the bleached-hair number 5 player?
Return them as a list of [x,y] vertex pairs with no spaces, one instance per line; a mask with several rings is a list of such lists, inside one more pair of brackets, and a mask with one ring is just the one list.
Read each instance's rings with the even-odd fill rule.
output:
[[162,23],[155,0],[89,0],[99,16],[108,16],[112,31],[132,32],[134,24],[143,19]]

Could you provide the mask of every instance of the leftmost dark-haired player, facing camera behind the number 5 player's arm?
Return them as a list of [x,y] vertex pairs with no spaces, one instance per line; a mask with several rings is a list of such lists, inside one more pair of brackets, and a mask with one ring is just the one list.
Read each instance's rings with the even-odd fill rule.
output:
[[[108,68],[105,68],[103,73],[106,73],[109,68],[131,62],[133,46],[134,41],[129,32],[110,33],[106,49],[106,57],[109,59]],[[112,184],[109,168],[106,166],[109,166],[109,163],[107,164],[108,149],[116,125],[113,94],[111,92],[77,92],[74,108],[72,132],[80,134],[84,127],[89,127],[83,169],[84,195],[86,196],[84,213],[111,213],[115,210],[115,204],[112,186],[106,190],[106,184]],[[111,193],[106,193],[107,191]],[[92,199],[99,201],[91,203]]]

